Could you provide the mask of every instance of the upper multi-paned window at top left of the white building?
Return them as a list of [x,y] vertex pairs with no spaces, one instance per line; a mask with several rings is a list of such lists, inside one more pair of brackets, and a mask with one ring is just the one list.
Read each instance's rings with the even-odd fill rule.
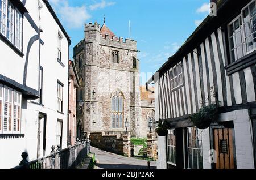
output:
[[0,0],[0,33],[22,50],[22,13],[9,0]]

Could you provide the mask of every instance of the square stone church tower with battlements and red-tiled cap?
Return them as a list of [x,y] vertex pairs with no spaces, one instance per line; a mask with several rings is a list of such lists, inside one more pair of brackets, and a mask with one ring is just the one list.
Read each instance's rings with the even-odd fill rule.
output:
[[74,48],[81,86],[77,100],[78,131],[142,135],[137,42],[116,37],[106,24],[85,24],[85,39]]

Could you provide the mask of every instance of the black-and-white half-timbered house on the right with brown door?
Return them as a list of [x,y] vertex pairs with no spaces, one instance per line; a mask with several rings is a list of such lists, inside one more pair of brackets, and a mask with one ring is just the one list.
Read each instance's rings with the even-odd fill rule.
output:
[[[158,138],[158,168],[255,168],[256,2],[216,1],[183,46],[147,82]],[[191,115],[216,103],[218,119],[201,130]]]

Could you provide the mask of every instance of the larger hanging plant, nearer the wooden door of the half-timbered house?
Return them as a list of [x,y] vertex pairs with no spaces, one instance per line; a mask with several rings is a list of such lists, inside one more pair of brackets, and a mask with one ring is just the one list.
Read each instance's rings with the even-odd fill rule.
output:
[[218,105],[216,103],[202,106],[199,112],[189,117],[193,124],[199,129],[206,129],[211,123],[218,120]]

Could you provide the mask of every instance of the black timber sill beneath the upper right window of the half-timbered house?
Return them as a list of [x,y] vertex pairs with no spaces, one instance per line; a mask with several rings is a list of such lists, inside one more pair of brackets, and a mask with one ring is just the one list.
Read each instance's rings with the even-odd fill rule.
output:
[[245,55],[244,57],[237,59],[237,61],[232,62],[230,65],[226,66],[226,74],[232,75],[235,72],[238,72],[240,70],[243,70],[247,67],[250,67],[251,65],[254,65],[256,63],[256,50],[253,52]]

